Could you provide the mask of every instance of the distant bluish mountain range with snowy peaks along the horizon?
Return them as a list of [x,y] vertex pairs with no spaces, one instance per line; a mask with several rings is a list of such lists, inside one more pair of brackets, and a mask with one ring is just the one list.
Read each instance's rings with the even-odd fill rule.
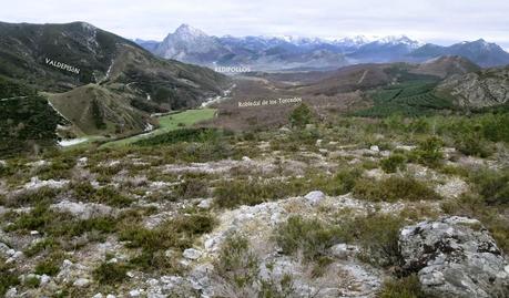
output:
[[136,40],[152,53],[186,63],[244,66],[255,71],[324,70],[359,63],[420,63],[441,55],[459,55],[476,64],[509,64],[509,53],[482,39],[450,47],[423,44],[408,37],[343,39],[213,37],[189,24],[180,25],[162,42]]

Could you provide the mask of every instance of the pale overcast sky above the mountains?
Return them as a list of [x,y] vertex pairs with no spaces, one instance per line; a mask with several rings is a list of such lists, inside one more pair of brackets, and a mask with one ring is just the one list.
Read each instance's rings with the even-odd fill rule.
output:
[[0,0],[0,21],[86,21],[125,38],[162,40],[181,23],[208,34],[406,34],[449,44],[483,38],[509,49],[508,0]]

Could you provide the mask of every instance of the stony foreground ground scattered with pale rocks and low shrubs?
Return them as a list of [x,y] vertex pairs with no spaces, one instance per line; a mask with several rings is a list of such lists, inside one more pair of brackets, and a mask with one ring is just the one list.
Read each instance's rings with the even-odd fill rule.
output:
[[[501,175],[506,147],[479,158],[440,146],[429,157],[414,140],[322,134],[303,143],[292,135],[235,140],[207,148],[211,156],[177,144],[2,161],[0,290],[95,298],[509,292],[507,205],[480,202],[482,183],[471,177]],[[397,296],[395,284],[423,296]]]

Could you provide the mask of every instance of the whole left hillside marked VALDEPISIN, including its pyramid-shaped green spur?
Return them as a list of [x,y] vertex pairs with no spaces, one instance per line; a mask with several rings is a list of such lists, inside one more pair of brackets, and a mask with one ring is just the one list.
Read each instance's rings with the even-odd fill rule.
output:
[[198,106],[230,84],[84,22],[0,23],[1,78],[0,99],[48,95],[73,124],[65,137],[140,133],[154,124],[149,114]]

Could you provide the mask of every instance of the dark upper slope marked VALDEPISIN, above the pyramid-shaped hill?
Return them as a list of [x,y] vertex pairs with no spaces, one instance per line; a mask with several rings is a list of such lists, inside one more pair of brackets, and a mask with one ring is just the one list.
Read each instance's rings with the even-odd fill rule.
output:
[[[183,88],[182,93],[200,100],[220,93],[225,83],[211,70],[156,59],[134,42],[83,22],[0,23],[0,74],[43,91],[121,82],[140,83],[140,92],[154,95],[156,88],[145,82],[154,80],[156,86]],[[52,61],[79,73],[57,68]]]

